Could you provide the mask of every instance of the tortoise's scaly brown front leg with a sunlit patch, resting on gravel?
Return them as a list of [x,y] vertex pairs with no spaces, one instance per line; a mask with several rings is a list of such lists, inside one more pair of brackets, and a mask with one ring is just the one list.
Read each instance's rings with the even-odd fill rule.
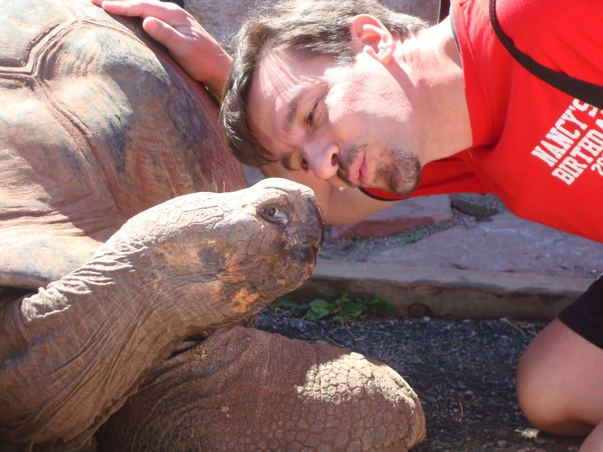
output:
[[112,451],[403,452],[424,436],[417,395],[388,366],[242,327],[163,362],[99,431]]

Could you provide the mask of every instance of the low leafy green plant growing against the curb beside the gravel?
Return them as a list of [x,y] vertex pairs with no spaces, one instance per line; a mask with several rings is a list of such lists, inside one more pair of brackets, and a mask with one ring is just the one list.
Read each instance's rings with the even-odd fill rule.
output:
[[391,314],[396,310],[394,304],[377,297],[365,295],[362,298],[350,300],[347,289],[341,289],[341,296],[334,301],[315,298],[309,303],[293,300],[290,295],[277,298],[265,309],[277,313],[279,308],[303,315],[308,320],[329,320],[341,324],[347,323],[361,315]]

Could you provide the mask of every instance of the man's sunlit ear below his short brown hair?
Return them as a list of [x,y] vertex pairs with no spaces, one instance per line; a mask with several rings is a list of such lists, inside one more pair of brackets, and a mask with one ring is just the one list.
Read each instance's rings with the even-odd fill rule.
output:
[[358,14],[350,23],[350,36],[356,52],[365,52],[387,64],[394,53],[394,38],[379,19],[369,14]]

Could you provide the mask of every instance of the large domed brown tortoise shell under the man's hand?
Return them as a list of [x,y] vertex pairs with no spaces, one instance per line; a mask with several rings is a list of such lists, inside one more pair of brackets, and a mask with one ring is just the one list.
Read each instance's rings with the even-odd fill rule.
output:
[[37,288],[128,218],[247,186],[204,87],[139,19],[0,2],[0,284]]

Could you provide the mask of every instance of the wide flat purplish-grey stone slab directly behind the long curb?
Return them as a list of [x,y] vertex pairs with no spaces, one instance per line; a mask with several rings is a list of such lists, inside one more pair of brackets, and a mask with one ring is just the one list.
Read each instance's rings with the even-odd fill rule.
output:
[[382,251],[368,262],[596,277],[603,271],[603,243],[502,213]]

